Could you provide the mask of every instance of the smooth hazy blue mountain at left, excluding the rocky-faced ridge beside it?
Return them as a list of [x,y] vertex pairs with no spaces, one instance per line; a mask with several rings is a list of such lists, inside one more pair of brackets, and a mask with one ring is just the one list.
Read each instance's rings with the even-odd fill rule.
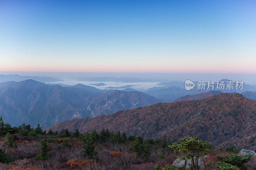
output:
[[0,88],[0,115],[15,126],[40,123],[46,128],[71,119],[93,97],[90,91],[25,80]]

